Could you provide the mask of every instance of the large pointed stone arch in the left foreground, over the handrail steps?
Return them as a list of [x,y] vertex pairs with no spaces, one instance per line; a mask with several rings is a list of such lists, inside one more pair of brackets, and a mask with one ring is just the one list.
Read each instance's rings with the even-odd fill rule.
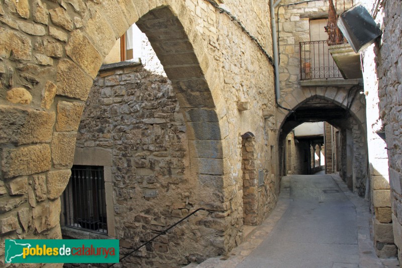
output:
[[[0,29],[0,40],[3,40],[0,53],[6,66],[14,68],[13,72],[38,77],[32,82],[35,85],[31,103],[25,95],[23,100],[16,100],[10,94],[10,100],[18,102],[15,104],[4,98],[0,100],[0,137],[5,148],[1,151],[2,176],[11,184],[28,185],[27,181],[32,180],[47,184],[48,188],[48,199],[38,201],[33,210],[25,205],[19,209],[21,202],[15,200],[17,205],[10,210],[17,208],[18,211],[12,212],[12,216],[32,214],[37,232],[50,230],[49,238],[61,237],[59,196],[68,182],[83,101],[104,57],[134,22],[139,23],[151,41],[182,108],[191,151],[190,165],[199,181],[195,191],[208,197],[206,200],[198,198],[197,205],[227,210],[222,205],[224,152],[218,117],[224,108],[216,105],[216,100],[220,100],[219,85],[213,79],[204,41],[193,29],[192,16],[184,3],[159,0],[66,2],[71,4],[51,4],[51,26],[57,30],[52,37],[41,36],[38,30],[40,37],[32,41],[26,33],[11,26]],[[33,20],[42,19],[35,17]],[[50,56],[36,57],[33,48]],[[53,65],[43,65],[44,60],[52,60]],[[42,63],[38,64],[39,61]],[[4,87],[12,86],[5,84]],[[26,103],[30,105],[23,106]],[[21,162],[25,165],[21,166]],[[35,194],[32,195],[36,203]],[[223,244],[219,249],[222,252],[228,246],[223,240],[217,242]]]

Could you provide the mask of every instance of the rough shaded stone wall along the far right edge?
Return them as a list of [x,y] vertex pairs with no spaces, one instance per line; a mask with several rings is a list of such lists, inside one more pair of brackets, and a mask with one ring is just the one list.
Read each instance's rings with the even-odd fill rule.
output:
[[[401,110],[402,110],[402,51],[401,51],[401,33],[402,33],[402,3],[400,1],[384,1],[384,19],[383,19],[383,35],[382,46],[380,50],[375,49],[376,62],[380,62],[377,66],[378,81],[378,97],[379,97],[379,116],[385,130],[386,152],[388,156],[389,166],[389,184],[391,190],[380,190],[381,200],[386,200],[383,209],[376,211],[376,217],[383,211],[387,219],[389,219],[389,203],[385,199],[385,194],[389,197],[392,208],[392,226],[394,242],[398,247],[399,263],[402,265],[402,149],[401,141]],[[380,198],[380,197],[379,197]],[[375,201],[375,199],[374,199]],[[375,206],[375,205],[374,205]],[[380,217],[380,216],[379,216]],[[381,226],[382,227],[382,226]],[[384,226],[389,232],[389,224]],[[388,241],[384,241],[387,246]],[[389,243],[389,242],[388,242]]]

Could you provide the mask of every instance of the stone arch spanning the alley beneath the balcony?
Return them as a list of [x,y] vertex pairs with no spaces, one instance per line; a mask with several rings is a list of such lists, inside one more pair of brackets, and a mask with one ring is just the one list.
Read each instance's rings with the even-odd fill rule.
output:
[[[365,192],[365,174],[367,172],[366,166],[366,152],[367,152],[367,140],[366,140],[366,115],[365,115],[365,100],[359,94],[361,90],[360,86],[352,86],[351,88],[343,87],[317,87],[317,88],[303,88],[302,91],[298,93],[289,93],[285,96],[285,107],[290,108],[292,111],[279,111],[277,117],[277,126],[280,130],[278,135],[279,150],[282,140],[287,135],[287,133],[301,124],[300,114],[297,115],[297,111],[308,107],[315,111],[311,113],[310,116],[314,118],[321,118],[318,121],[327,121],[331,125],[339,129],[343,129],[344,140],[346,142],[346,137],[349,142],[349,147],[354,147],[354,153],[347,155],[351,157],[359,158],[359,161],[353,161],[353,172],[346,172],[343,170],[343,178],[350,184],[350,189],[355,189],[356,185],[354,183],[355,173],[361,174],[364,180],[363,183],[358,183],[361,187],[359,190],[359,195],[364,196]],[[314,110],[316,109],[316,110]],[[321,110],[320,110],[321,109]],[[308,109],[307,109],[308,110]],[[293,113],[293,111],[296,111]],[[322,115],[324,114],[324,115]],[[308,114],[307,114],[308,115]],[[306,115],[304,115],[306,117]],[[298,119],[295,119],[299,117]],[[302,116],[303,117],[303,116]],[[340,118],[337,118],[340,117]],[[310,122],[313,122],[314,119]],[[304,121],[307,122],[307,121]],[[346,127],[349,131],[346,131]],[[347,133],[348,132],[348,133]],[[353,133],[353,134],[351,134]],[[363,143],[363,146],[360,146]],[[344,144],[346,146],[346,143]],[[346,148],[346,147],[345,147]],[[346,149],[345,149],[346,151]],[[283,152],[280,151],[279,157],[282,156]],[[346,155],[346,154],[345,154]],[[353,158],[353,159],[354,159]],[[361,158],[361,159],[360,159]],[[344,165],[348,166],[351,164],[343,158]],[[359,163],[359,164],[358,164]],[[350,168],[349,168],[350,169]],[[283,173],[283,172],[281,172]],[[353,173],[353,174],[352,174]],[[342,172],[341,172],[342,174]],[[346,174],[350,178],[345,178]],[[353,186],[352,186],[352,176],[353,176]]]

